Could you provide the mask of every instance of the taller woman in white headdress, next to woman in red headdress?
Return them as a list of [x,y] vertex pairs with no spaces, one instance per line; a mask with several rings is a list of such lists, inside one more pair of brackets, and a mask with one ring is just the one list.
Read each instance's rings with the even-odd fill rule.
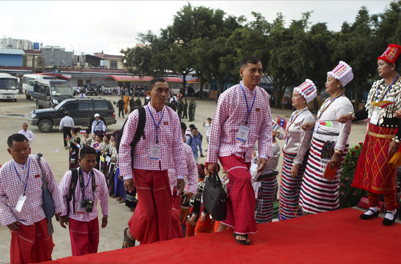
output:
[[325,88],[330,97],[317,112],[317,121],[301,126],[304,130],[313,129],[299,199],[304,214],[339,209],[340,170],[348,153],[351,121],[343,124],[337,119],[354,109],[344,95],[344,87],[353,77],[352,68],[344,61],[328,72]]

